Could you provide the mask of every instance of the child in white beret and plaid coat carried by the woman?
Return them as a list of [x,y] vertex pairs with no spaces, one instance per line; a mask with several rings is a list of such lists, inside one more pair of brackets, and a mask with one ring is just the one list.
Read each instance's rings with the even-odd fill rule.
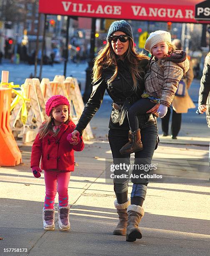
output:
[[[143,99],[135,102],[128,110],[129,142],[120,149],[121,154],[143,150],[137,115],[147,113],[149,109],[153,110],[153,107],[160,103],[157,113],[154,114],[163,118],[173,101],[183,74],[189,69],[186,52],[176,51],[175,46],[171,44],[171,35],[167,31],[158,30],[150,33],[145,42],[145,49],[152,54],[150,67],[145,76],[145,91],[141,95]],[[130,142],[131,135],[134,137],[133,143]]]

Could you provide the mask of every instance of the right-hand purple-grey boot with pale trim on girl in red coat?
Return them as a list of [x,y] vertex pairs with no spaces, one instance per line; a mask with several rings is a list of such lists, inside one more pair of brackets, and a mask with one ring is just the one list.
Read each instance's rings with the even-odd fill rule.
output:
[[59,204],[57,204],[58,225],[60,230],[62,231],[70,230],[69,212],[70,212],[69,205],[65,207],[60,207]]

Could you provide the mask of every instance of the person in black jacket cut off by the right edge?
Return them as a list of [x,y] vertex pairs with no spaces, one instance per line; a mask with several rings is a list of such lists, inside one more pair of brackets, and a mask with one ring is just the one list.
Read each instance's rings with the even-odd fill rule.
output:
[[[200,90],[198,99],[198,111],[203,114],[206,112],[207,125],[210,128],[210,52],[205,58],[203,76],[200,80]],[[210,163],[210,145],[209,145]]]

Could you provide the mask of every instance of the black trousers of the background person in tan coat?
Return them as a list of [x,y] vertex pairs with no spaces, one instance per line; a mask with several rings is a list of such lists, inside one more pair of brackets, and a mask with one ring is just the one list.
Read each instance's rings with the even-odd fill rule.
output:
[[[161,118],[162,121],[162,130],[164,133],[168,133],[168,127],[169,127],[169,120],[170,120],[170,113],[171,109],[168,108],[167,114],[164,116],[164,118]],[[172,113],[172,123],[171,123],[171,134],[172,136],[178,136],[178,133],[181,128],[181,122],[182,122],[182,114],[176,113],[173,110]]]

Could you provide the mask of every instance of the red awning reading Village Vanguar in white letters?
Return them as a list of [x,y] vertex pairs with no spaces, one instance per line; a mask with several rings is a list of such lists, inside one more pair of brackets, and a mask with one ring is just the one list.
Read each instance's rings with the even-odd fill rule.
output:
[[40,0],[39,12],[94,18],[209,23],[195,20],[202,0]]

